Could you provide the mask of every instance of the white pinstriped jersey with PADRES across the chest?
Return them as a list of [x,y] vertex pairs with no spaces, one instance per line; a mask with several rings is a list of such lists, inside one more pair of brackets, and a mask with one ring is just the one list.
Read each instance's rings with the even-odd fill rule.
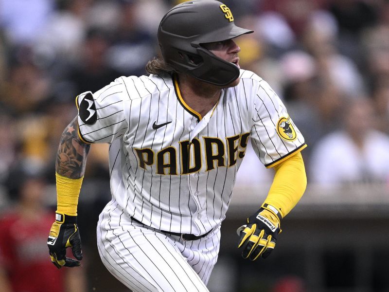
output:
[[277,94],[245,70],[205,116],[169,75],[120,77],[77,105],[81,139],[110,144],[123,216],[164,231],[201,235],[221,223],[248,138],[266,167],[306,146]]

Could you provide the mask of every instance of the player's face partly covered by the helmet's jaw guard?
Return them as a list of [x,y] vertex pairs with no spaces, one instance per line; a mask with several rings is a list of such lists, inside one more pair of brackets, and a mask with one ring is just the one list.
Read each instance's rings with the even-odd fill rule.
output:
[[[239,46],[232,40],[224,40],[213,43],[204,44],[204,47],[212,52],[212,54],[218,56],[219,58],[231,62],[239,67],[239,57],[238,53],[240,52]],[[231,82],[227,87],[235,86],[239,83],[239,78]]]

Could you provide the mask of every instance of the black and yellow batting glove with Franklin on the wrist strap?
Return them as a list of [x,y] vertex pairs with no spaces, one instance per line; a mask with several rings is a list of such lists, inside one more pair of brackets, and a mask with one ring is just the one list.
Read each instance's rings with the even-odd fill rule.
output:
[[243,247],[244,258],[256,260],[259,256],[266,258],[270,255],[276,246],[277,235],[281,232],[280,219],[281,215],[277,216],[269,208],[261,207],[247,219],[246,225],[238,228],[238,248]]

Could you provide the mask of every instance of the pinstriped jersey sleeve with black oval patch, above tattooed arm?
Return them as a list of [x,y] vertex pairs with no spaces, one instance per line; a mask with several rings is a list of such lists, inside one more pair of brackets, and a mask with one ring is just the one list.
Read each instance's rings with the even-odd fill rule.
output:
[[128,128],[124,84],[116,80],[95,93],[86,91],[76,98],[78,134],[86,143],[112,143]]

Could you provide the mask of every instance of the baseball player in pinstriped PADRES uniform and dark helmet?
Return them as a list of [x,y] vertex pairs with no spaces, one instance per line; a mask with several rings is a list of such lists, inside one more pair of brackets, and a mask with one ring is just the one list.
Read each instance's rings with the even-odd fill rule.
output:
[[[275,177],[238,229],[238,247],[251,260],[270,254],[281,220],[305,190],[306,145],[277,94],[239,68],[233,39],[252,32],[219,1],[178,4],[159,24],[162,57],[147,64],[150,75],[119,77],[77,96],[78,116],[56,160],[48,238],[55,266],[82,259],[77,201],[93,143],[109,144],[112,193],[97,224],[99,253],[132,291],[208,291],[248,139]],[[76,259],[65,256],[67,247]]]

